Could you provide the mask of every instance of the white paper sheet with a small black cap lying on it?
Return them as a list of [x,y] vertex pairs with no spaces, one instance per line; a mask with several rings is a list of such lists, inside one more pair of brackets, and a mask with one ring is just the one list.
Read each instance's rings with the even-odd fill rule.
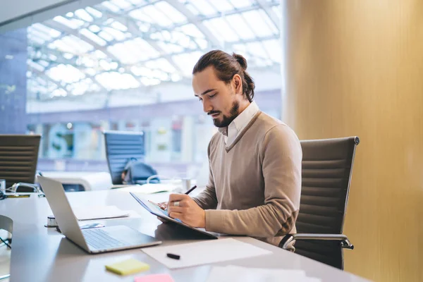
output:
[[[142,251],[161,262],[161,264],[166,265],[169,269],[225,262],[232,259],[244,259],[272,253],[269,250],[264,250],[233,238],[164,247],[147,247],[142,249]],[[180,255],[180,259],[171,259],[166,256],[168,253]]]

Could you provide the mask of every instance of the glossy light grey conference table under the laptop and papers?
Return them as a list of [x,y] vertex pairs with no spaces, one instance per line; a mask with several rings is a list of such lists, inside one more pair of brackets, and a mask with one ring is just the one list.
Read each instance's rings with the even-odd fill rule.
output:
[[[105,226],[125,225],[151,235],[166,245],[192,243],[205,240],[189,228],[175,223],[162,223],[149,214],[127,191],[97,190],[67,192],[71,206],[94,207],[114,205],[122,210],[133,211],[128,218],[95,220]],[[168,193],[147,196],[161,202],[168,199]],[[245,266],[266,269],[301,269],[307,276],[321,281],[367,281],[353,274],[321,264],[307,257],[282,250],[255,238],[222,235],[221,238],[235,238],[272,252],[271,255],[238,259],[216,264],[192,266],[185,269],[168,269],[149,257],[140,249],[89,255],[56,231],[44,227],[51,209],[45,197],[33,194],[27,198],[0,200],[0,214],[13,220],[10,281],[134,281],[144,274],[171,274],[175,281],[207,281],[213,266]],[[119,276],[105,269],[106,264],[125,259],[138,259],[149,264],[149,271],[128,276]],[[284,279],[281,277],[281,281]]]

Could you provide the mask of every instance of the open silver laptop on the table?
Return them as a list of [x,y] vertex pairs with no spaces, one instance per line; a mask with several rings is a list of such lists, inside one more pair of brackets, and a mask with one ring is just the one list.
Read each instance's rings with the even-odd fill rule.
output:
[[65,195],[63,185],[51,178],[42,176],[37,178],[61,233],[86,252],[98,254],[161,244],[161,241],[128,226],[81,229]]

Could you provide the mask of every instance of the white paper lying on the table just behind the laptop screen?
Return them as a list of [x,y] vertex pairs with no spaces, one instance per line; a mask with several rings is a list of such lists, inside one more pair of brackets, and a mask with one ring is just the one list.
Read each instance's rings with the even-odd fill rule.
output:
[[72,210],[78,220],[114,219],[130,214],[130,211],[123,211],[116,206],[72,207]]

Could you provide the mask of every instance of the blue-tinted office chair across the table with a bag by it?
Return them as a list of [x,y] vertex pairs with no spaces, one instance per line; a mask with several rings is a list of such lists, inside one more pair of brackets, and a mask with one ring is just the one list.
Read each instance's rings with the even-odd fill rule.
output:
[[[122,172],[131,160],[142,161],[145,156],[144,133],[133,133],[124,131],[104,131],[106,142],[106,158],[111,175],[111,182],[114,185],[121,185]],[[139,171],[145,173],[147,179],[152,174],[157,174],[151,166],[144,164],[138,167]],[[138,183],[138,181],[137,181]],[[140,184],[142,180],[140,180]]]

